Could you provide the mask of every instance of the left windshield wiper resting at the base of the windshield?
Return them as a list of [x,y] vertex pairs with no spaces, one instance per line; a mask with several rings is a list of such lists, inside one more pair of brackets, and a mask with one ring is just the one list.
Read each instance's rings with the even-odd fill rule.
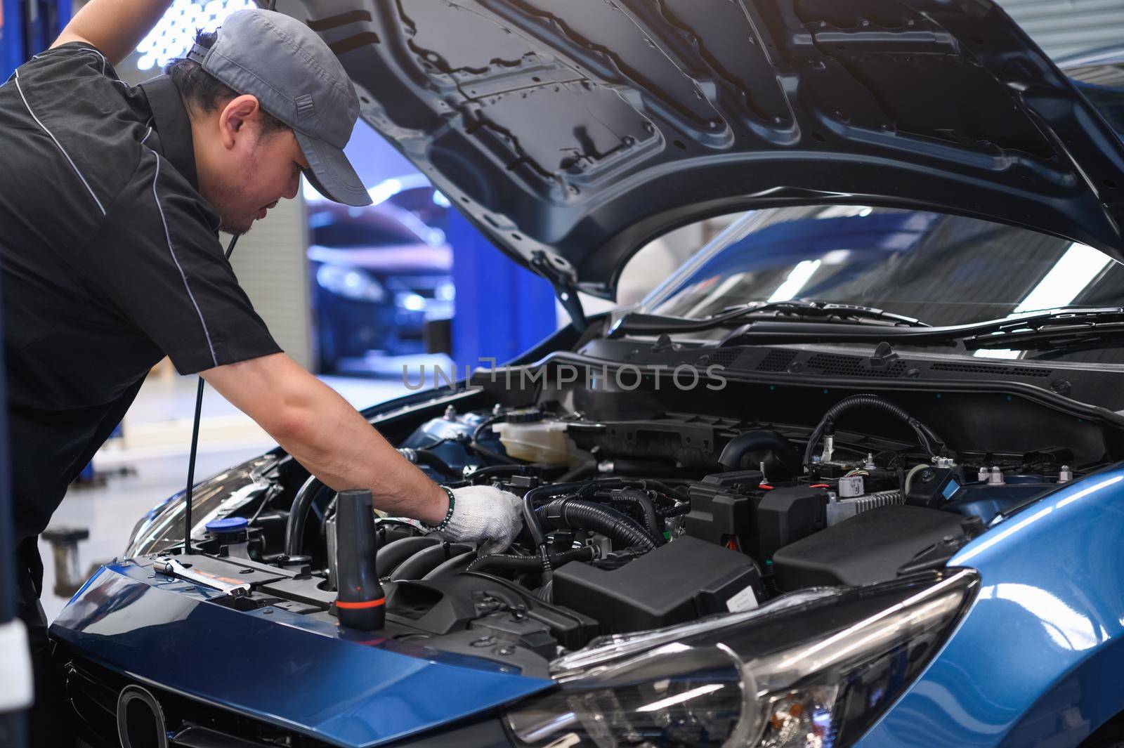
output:
[[780,322],[815,320],[817,322],[877,325],[880,327],[928,327],[925,322],[916,320],[913,317],[895,314],[894,312],[859,304],[837,304],[826,301],[803,300],[754,301],[724,309],[717,314],[704,319],[633,312],[617,320],[616,325],[609,330],[608,337],[618,337],[626,332],[699,332],[755,319]]

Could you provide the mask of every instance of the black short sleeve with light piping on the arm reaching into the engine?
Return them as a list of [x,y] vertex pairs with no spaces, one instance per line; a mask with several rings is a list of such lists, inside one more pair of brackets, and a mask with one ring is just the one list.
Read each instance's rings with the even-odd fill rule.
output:
[[85,253],[92,290],[181,374],[280,353],[187,181],[143,148]]

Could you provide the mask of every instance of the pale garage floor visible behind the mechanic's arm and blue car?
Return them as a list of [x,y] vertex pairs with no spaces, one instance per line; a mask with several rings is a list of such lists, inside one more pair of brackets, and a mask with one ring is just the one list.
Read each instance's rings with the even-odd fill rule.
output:
[[[401,380],[320,377],[356,408],[406,394]],[[142,513],[182,491],[187,478],[196,377],[153,375],[125,416],[125,436],[112,439],[94,457],[97,471],[109,475],[99,487],[72,487],[51,527],[84,527],[89,540],[79,546],[79,568],[119,556]],[[259,455],[274,446],[254,421],[211,389],[205,390],[200,422],[197,481]],[[116,475],[121,468],[132,474]],[[66,600],[52,593],[55,582],[49,544],[40,540],[45,565],[43,608],[54,620]]]

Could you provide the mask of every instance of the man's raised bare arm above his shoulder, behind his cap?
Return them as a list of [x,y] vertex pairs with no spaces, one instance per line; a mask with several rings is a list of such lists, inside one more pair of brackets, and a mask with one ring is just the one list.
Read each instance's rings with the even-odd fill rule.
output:
[[51,46],[89,42],[117,65],[136,49],[171,4],[171,0],[90,0]]

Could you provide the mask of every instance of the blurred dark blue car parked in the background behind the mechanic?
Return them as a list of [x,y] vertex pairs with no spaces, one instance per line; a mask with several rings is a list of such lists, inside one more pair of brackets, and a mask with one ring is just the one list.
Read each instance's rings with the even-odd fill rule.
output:
[[[453,316],[453,254],[444,231],[392,201],[414,204],[426,191],[434,204],[433,188],[409,177],[373,188],[374,204],[366,208],[309,200],[320,372],[370,374],[387,357],[423,354],[426,321]],[[424,215],[436,220],[438,212]]]

